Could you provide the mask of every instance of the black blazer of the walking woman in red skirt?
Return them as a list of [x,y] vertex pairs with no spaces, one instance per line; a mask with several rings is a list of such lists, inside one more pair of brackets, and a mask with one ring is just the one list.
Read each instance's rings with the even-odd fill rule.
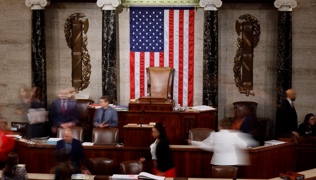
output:
[[[160,139],[156,146],[157,168],[159,171],[165,172],[174,167],[174,162],[171,157],[169,143],[167,139]],[[145,157],[151,160],[151,154]]]

